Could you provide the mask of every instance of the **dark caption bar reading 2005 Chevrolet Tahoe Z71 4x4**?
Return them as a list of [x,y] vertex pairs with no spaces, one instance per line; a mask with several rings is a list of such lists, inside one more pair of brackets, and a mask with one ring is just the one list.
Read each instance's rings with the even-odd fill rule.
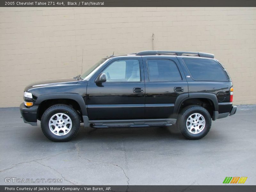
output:
[[0,0],[0,7],[256,7],[256,0]]

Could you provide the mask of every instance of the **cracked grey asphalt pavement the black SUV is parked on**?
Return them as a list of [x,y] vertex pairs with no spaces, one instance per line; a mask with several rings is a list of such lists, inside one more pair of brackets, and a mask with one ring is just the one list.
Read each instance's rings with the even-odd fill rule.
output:
[[213,122],[201,140],[185,140],[175,126],[81,127],[75,139],[56,143],[24,124],[18,108],[0,114],[0,185],[6,177],[64,185],[220,185],[248,177],[245,184],[256,184],[256,105]]

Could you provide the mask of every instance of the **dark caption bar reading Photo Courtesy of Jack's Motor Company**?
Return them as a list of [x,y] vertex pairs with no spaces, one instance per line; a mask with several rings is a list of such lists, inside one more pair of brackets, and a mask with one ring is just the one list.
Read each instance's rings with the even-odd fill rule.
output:
[[2,185],[1,192],[252,192],[256,186],[228,185]]

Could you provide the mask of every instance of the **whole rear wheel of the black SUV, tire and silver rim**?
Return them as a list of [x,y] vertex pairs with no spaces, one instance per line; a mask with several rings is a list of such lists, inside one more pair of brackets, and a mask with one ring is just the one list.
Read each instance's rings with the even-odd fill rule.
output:
[[182,109],[178,115],[177,127],[186,139],[203,138],[210,131],[211,126],[211,115],[201,106],[190,105]]

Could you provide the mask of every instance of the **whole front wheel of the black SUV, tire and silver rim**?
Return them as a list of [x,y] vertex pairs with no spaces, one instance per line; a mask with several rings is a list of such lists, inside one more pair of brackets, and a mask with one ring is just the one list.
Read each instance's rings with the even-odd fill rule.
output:
[[45,110],[41,118],[44,135],[57,142],[65,142],[76,137],[80,128],[77,112],[64,104],[57,104]]

